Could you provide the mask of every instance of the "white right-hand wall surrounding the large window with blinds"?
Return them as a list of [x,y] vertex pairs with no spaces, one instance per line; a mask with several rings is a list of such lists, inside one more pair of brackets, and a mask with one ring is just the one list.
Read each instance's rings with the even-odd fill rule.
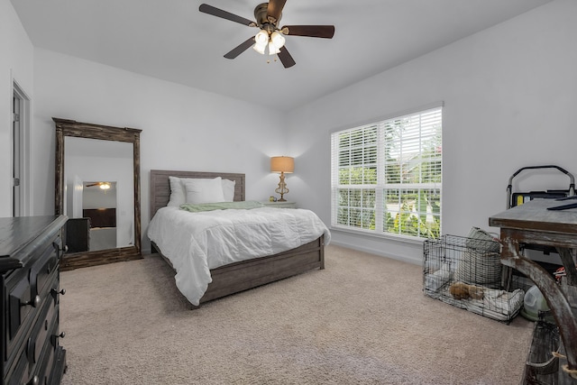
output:
[[[298,156],[291,198],[329,224],[330,132],[439,101],[444,234],[489,229],[489,216],[506,208],[508,178],[521,167],[557,164],[577,175],[576,14],[576,1],[557,0],[291,112],[289,154]],[[514,190],[568,188],[563,174],[549,174],[536,177],[544,184],[535,187],[536,179],[520,175]],[[422,259],[421,243],[337,231],[333,242]]]

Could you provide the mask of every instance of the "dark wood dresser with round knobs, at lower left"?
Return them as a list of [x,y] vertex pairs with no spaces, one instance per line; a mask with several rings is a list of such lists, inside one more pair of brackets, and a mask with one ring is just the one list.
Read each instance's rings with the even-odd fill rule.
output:
[[58,384],[66,369],[59,343],[66,221],[66,215],[0,218],[1,384]]

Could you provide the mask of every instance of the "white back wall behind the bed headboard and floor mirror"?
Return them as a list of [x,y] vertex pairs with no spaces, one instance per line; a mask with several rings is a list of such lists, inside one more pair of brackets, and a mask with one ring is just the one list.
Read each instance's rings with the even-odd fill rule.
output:
[[[34,54],[36,215],[54,211],[52,117],[142,129],[145,240],[150,220],[150,170],[244,172],[247,199],[269,197],[275,186],[269,157],[285,146],[283,114],[49,50],[36,49]],[[143,250],[149,247],[150,243],[142,243]]]

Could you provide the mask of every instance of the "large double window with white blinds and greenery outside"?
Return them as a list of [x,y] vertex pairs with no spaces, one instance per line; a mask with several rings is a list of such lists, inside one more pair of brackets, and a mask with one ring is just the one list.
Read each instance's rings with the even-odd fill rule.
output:
[[442,108],[332,133],[335,228],[441,234]]

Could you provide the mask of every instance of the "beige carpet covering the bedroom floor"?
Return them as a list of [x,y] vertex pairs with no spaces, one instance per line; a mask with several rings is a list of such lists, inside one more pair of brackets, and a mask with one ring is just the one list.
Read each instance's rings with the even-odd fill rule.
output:
[[326,269],[190,310],[155,256],[61,273],[63,384],[516,384],[533,324],[422,293],[421,267],[328,246]]

